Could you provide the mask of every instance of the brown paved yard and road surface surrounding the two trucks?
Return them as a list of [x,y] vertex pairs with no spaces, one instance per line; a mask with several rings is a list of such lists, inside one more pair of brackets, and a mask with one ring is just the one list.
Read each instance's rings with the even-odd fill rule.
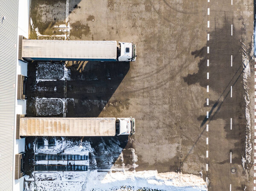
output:
[[133,148],[136,171],[202,171],[209,190],[230,184],[232,190],[252,190],[252,165],[247,162],[244,170],[241,160],[246,134],[242,51],[251,49],[253,0],[233,0],[233,6],[226,0],[76,0],[66,13],[66,0],[32,1],[30,38],[133,41],[137,60],[68,62],[70,79],[41,82],[35,79],[37,63],[29,63],[29,116],[35,114],[36,97],[67,99],[66,117],[132,116],[136,133],[128,142],[119,140],[126,145],[125,165],[134,163],[125,152]]

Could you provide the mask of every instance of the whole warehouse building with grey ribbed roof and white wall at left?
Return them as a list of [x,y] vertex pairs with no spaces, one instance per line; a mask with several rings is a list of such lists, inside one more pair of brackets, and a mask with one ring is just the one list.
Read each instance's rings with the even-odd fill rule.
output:
[[[0,1],[0,190],[23,190],[25,138],[16,140],[16,115],[26,113],[26,100],[18,94],[27,64],[19,61],[18,35],[28,37],[29,0]],[[20,86],[21,85],[21,86]],[[19,99],[19,100],[18,100]]]

